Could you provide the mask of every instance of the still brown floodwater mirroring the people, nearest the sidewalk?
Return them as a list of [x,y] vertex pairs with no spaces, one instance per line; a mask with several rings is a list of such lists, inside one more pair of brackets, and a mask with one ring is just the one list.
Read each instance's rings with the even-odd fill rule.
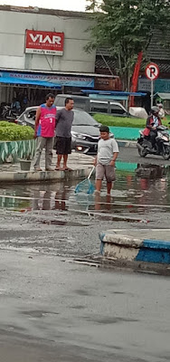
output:
[[169,167],[138,165],[134,173],[118,171],[117,180],[107,195],[103,183],[101,195],[74,194],[77,182],[37,185],[9,185],[0,188],[0,207],[29,212],[100,211],[101,213],[144,214],[148,207],[170,205]]

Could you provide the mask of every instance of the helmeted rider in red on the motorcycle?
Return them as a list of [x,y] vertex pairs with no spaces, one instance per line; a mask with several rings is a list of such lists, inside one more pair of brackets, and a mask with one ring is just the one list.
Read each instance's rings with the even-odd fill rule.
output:
[[146,129],[143,131],[144,136],[150,138],[152,148],[155,148],[157,136],[156,128],[160,125],[162,125],[162,122],[159,118],[159,108],[154,106],[151,108],[150,114],[146,119]]

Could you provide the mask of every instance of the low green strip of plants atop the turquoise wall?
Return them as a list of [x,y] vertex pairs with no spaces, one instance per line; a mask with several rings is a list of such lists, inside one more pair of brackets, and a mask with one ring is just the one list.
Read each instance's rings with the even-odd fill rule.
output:
[[[111,127],[130,127],[134,129],[144,129],[146,127],[145,119],[135,119],[128,117],[115,117],[109,116],[108,114],[96,113],[93,115],[93,118],[96,119],[99,123]],[[170,116],[167,116],[163,120],[165,126],[169,126],[168,122],[170,121]]]

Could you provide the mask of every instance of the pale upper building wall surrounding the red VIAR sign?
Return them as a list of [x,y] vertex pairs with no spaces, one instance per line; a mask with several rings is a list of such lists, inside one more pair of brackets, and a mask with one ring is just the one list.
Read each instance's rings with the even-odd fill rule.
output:
[[[83,47],[90,40],[90,20],[79,15],[60,16],[0,10],[0,68],[34,71],[94,72],[96,53]],[[63,55],[25,54],[25,30],[64,33]]]

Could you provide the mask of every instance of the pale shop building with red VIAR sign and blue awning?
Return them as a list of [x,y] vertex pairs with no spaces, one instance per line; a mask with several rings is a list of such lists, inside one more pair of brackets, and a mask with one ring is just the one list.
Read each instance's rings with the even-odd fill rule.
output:
[[0,102],[40,103],[47,92],[94,88],[96,52],[87,53],[90,15],[0,6]]

